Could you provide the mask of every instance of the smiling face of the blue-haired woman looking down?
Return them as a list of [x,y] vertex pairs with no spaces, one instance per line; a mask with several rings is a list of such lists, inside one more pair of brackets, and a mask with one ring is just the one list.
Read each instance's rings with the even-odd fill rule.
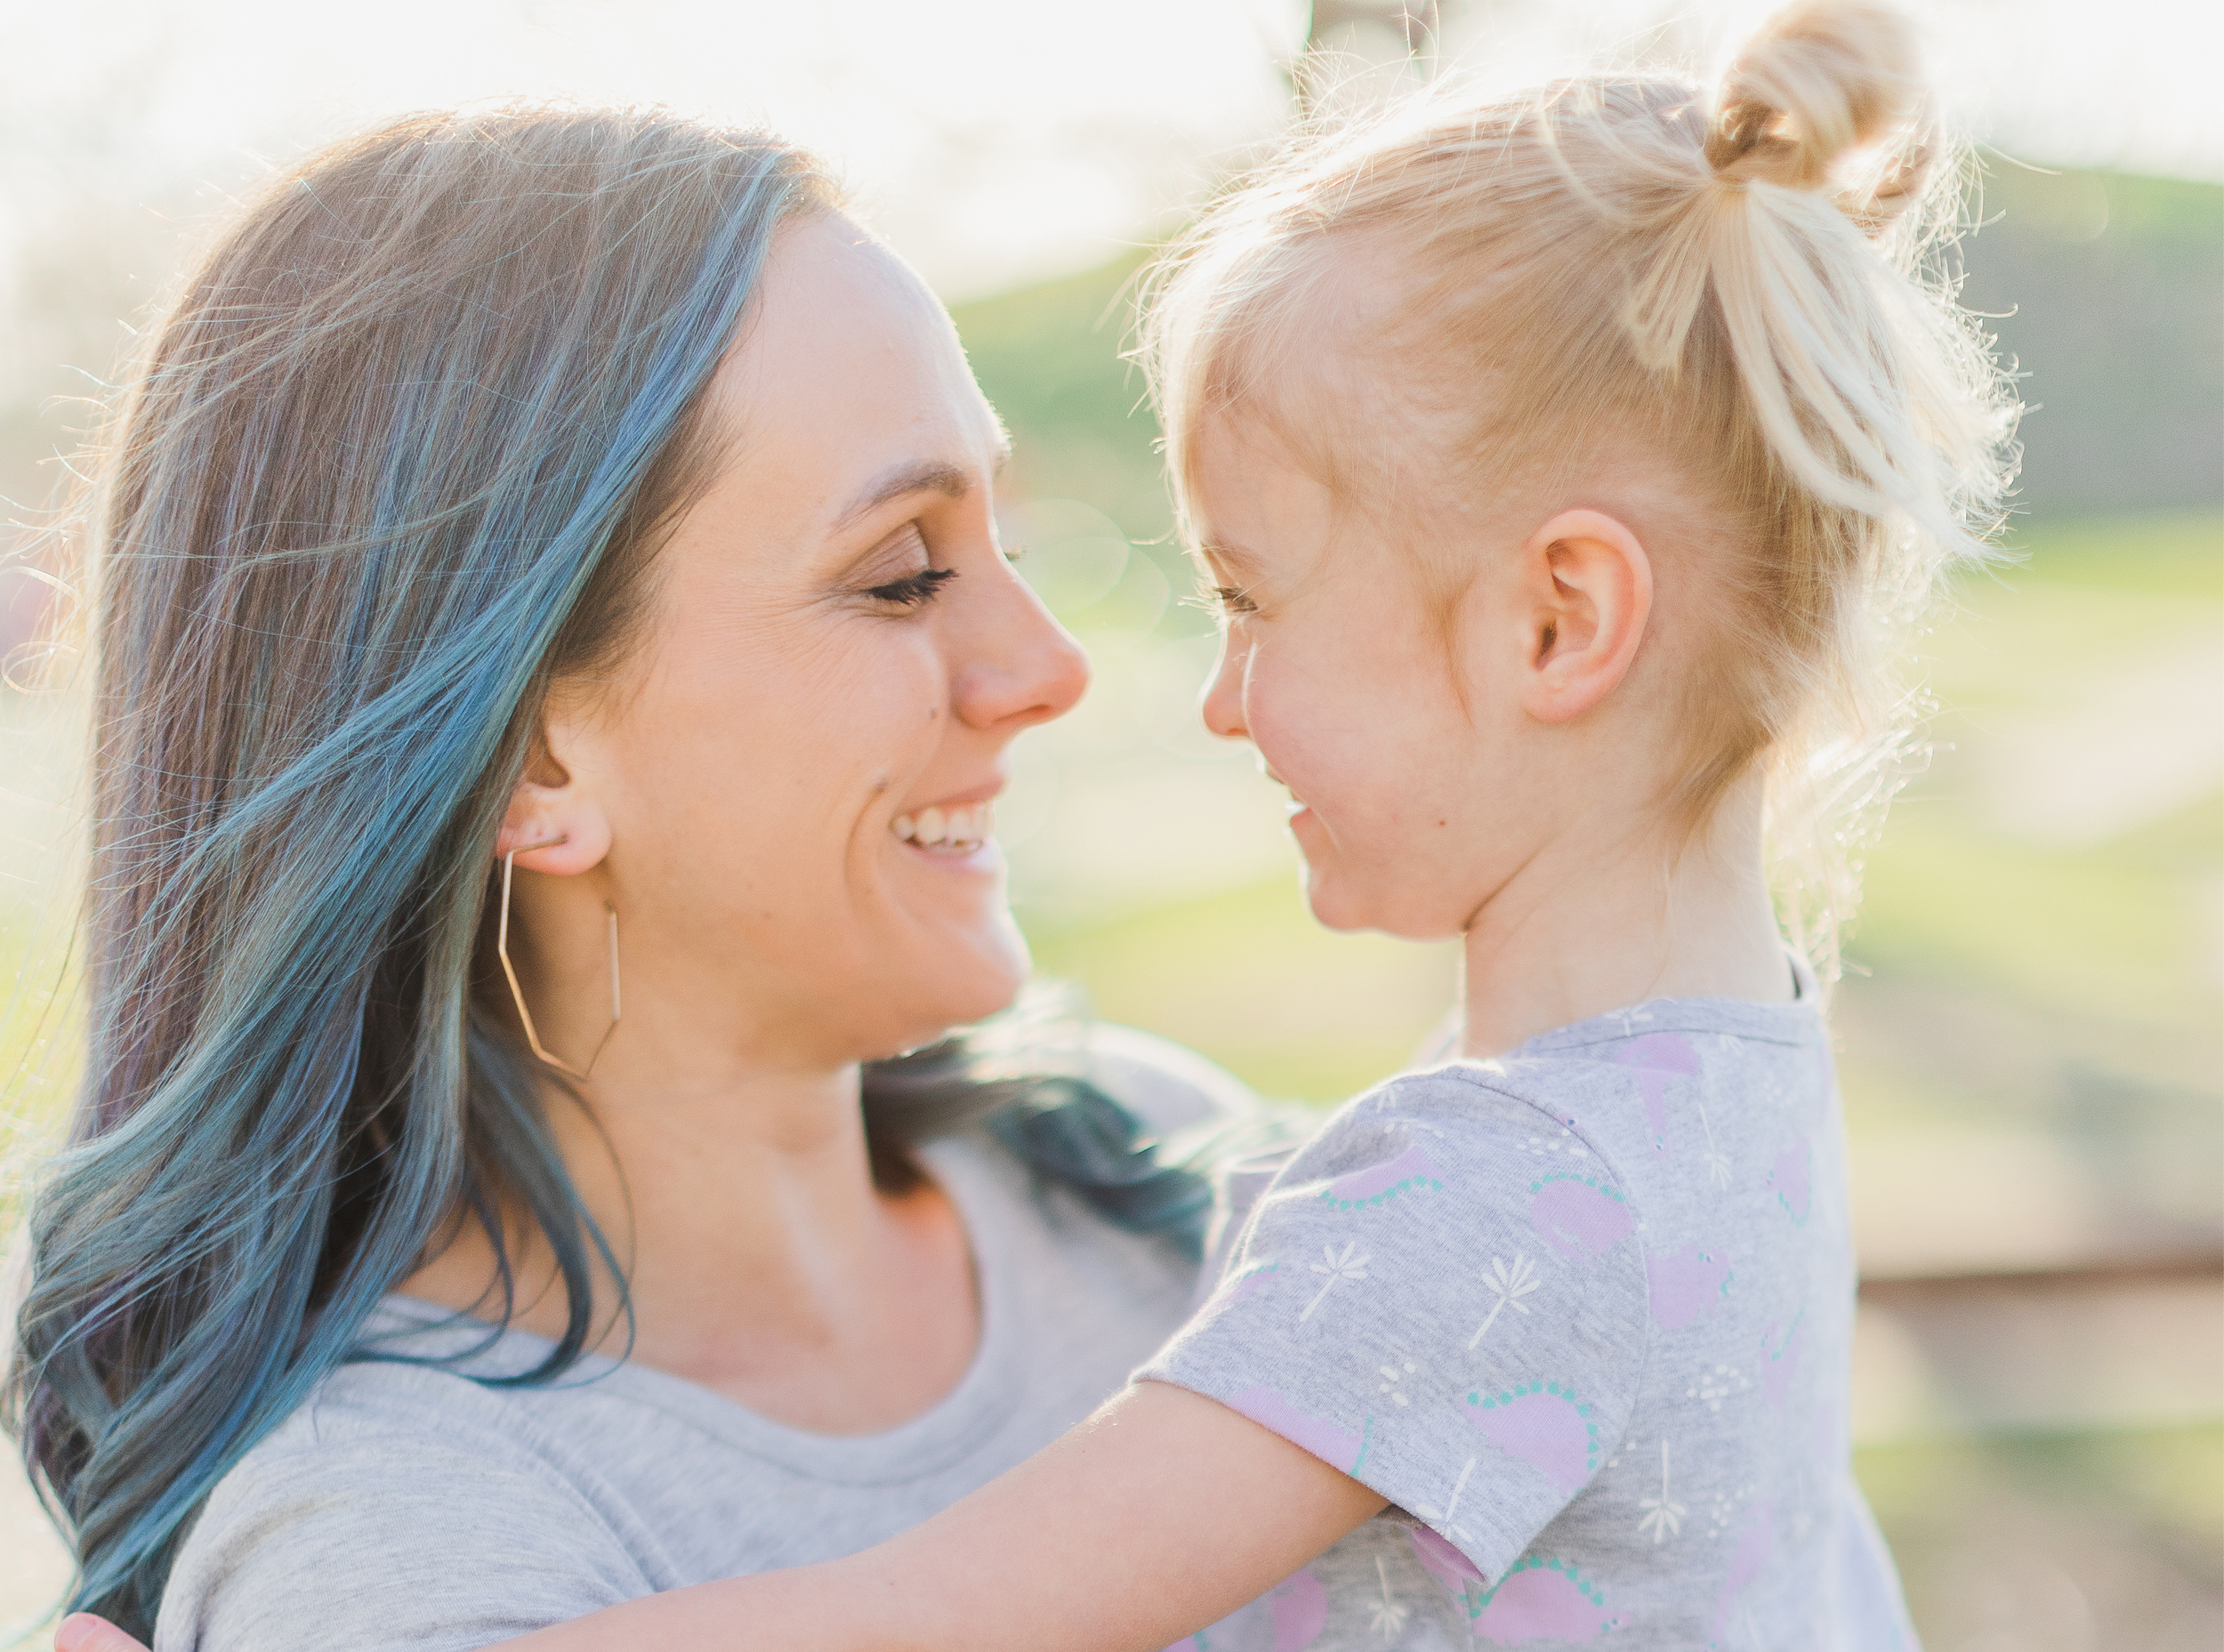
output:
[[607,1061],[892,1054],[1025,978],[990,800],[1088,663],[996,547],[1005,438],[950,318],[854,225],[781,231],[712,396],[727,447],[645,640],[558,689],[505,823],[505,849],[567,838],[520,867],[583,874],[518,889],[549,1043],[580,1061],[609,1021],[607,900]]

